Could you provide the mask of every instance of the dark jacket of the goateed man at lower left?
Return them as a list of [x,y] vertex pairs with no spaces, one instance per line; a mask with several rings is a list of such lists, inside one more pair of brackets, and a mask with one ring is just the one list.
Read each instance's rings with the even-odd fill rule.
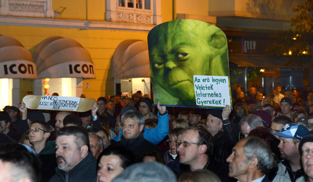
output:
[[[56,174],[50,179],[49,182],[66,181],[66,172],[59,168],[55,168]],[[68,182],[95,182],[97,181],[97,160],[90,151],[88,155],[80,161],[72,170],[69,171]]]

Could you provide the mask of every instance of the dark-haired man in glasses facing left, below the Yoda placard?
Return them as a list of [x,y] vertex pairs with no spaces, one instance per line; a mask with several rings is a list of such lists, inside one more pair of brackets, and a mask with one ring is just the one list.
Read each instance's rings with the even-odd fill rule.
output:
[[189,165],[192,171],[208,169],[216,174],[221,181],[229,181],[228,167],[214,159],[214,139],[204,127],[188,127],[182,131],[181,135],[180,140],[176,142],[180,164]]

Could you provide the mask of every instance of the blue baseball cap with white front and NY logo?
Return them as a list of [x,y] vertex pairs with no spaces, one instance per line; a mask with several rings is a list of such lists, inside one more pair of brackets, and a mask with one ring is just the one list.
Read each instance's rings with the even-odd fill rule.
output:
[[271,133],[285,138],[296,138],[301,140],[306,133],[309,133],[309,129],[301,124],[287,123],[280,131],[280,133]]

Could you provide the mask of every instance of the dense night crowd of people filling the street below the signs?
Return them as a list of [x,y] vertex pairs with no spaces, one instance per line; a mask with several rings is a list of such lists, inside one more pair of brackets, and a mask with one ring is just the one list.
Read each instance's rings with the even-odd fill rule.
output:
[[7,106],[0,181],[313,182],[313,93],[281,90],[237,86],[233,110],[155,106],[141,91],[86,112]]

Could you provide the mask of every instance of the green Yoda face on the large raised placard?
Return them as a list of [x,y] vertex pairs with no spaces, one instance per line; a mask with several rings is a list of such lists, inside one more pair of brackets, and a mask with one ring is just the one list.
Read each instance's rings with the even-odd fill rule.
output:
[[152,79],[186,106],[196,105],[193,75],[228,74],[226,36],[209,23],[162,23],[149,32],[148,48]]

